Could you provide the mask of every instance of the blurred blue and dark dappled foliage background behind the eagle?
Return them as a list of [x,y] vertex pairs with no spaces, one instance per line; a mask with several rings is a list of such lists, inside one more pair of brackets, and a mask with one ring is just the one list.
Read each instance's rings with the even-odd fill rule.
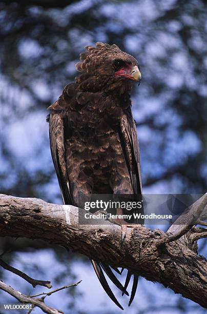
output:
[[[143,79],[139,88],[134,86],[132,98],[143,192],[206,192],[204,0],[0,0],[0,9],[1,193],[62,203],[46,108],[74,80],[84,46],[97,41],[117,44],[140,63]],[[199,244],[204,254],[204,242]],[[48,297],[51,306],[66,313],[121,312],[103,292],[85,257],[24,239],[1,239],[0,250],[10,250],[5,260],[31,277],[52,280],[54,287],[82,279],[78,287]],[[6,283],[34,293],[23,280],[0,271]],[[116,296],[120,300],[118,291]],[[0,292],[0,303],[6,300],[12,299]],[[121,301],[132,314],[204,312],[144,279],[129,309],[127,300]]]

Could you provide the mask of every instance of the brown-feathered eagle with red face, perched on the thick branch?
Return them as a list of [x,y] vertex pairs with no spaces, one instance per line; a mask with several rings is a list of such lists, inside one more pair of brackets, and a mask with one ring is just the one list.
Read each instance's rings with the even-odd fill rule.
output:
[[[97,43],[80,54],[76,69],[81,74],[75,83],[68,84],[48,108],[51,153],[65,204],[80,207],[80,193],[141,194],[130,98],[132,81],[138,82],[141,76],[136,59],[116,45]],[[101,264],[92,264],[103,288],[122,308]],[[114,282],[111,269],[107,265],[102,268]],[[136,276],[130,304],[137,280]],[[126,287],[119,288],[126,293]]]

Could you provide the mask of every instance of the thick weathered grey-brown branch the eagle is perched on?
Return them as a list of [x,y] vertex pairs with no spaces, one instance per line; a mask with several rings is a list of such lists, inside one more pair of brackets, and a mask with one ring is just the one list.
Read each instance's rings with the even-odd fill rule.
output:
[[[205,197],[189,208],[189,219],[192,215],[195,217],[196,210],[202,206],[199,219],[206,219],[203,199]],[[0,195],[0,208],[1,237],[42,239],[59,244],[112,267],[125,267],[207,307],[207,261],[180,240],[157,246],[157,241],[169,237],[163,231],[137,225],[122,242],[118,225],[110,222],[106,225],[98,225],[98,222],[97,225],[78,224],[78,208],[74,206]],[[168,231],[175,234],[182,226],[172,226]],[[192,228],[191,234],[197,233],[196,229]]]

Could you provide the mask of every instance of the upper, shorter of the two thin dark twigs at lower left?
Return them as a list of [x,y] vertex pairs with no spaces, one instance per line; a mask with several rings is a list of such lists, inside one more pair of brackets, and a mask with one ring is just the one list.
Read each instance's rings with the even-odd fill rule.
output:
[[6,262],[4,262],[1,258],[0,258],[0,266],[2,266],[4,269],[9,270],[15,274],[17,274],[19,277],[23,278],[24,280],[26,280],[27,282],[29,282],[34,288],[39,285],[39,286],[44,286],[47,288],[52,288],[51,282],[50,281],[45,281],[45,280],[36,280],[33,279],[31,277],[29,277],[26,273],[24,273],[23,271],[16,269],[12,266],[10,266],[9,264],[7,264]]

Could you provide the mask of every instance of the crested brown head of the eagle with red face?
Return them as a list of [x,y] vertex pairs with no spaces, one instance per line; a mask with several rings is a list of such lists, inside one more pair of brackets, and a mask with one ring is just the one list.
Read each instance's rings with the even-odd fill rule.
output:
[[123,86],[130,88],[132,81],[139,85],[141,80],[137,60],[115,44],[96,43],[95,47],[87,46],[86,51],[80,53],[76,69],[82,72],[75,78],[79,90],[120,91]]

